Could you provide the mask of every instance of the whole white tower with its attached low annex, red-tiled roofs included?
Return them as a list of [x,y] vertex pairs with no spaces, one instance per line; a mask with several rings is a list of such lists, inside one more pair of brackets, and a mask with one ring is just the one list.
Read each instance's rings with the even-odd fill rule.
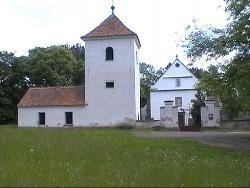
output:
[[30,88],[18,104],[18,126],[115,126],[140,118],[140,41],[114,14],[81,37],[85,85]]

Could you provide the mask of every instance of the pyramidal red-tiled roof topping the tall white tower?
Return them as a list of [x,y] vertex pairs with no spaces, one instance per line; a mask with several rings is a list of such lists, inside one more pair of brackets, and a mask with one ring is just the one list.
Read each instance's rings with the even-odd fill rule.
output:
[[88,34],[81,37],[82,40],[89,40],[102,37],[122,37],[122,36],[134,36],[138,40],[138,46],[140,45],[137,34],[127,28],[122,21],[115,15],[111,14],[105,19],[99,26],[90,31]]

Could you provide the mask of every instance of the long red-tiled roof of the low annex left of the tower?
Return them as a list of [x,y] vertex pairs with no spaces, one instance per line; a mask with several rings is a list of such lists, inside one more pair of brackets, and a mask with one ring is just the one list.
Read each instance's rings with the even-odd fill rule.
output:
[[29,88],[17,107],[79,106],[85,104],[83,86]]

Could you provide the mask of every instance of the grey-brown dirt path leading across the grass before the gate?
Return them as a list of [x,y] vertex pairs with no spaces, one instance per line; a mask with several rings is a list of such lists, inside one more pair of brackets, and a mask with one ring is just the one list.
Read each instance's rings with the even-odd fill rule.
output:
[[147,138],[191,139],[216,147],[250,150],[250,132],[136,131],[134,134]]

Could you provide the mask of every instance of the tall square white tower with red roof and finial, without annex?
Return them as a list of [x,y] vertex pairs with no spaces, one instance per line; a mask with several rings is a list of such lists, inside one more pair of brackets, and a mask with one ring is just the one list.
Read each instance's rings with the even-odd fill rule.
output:
[[114,14],[81,37],[85,41],[85,103],[90,124],[115,125],[140,118],[137,34]]

